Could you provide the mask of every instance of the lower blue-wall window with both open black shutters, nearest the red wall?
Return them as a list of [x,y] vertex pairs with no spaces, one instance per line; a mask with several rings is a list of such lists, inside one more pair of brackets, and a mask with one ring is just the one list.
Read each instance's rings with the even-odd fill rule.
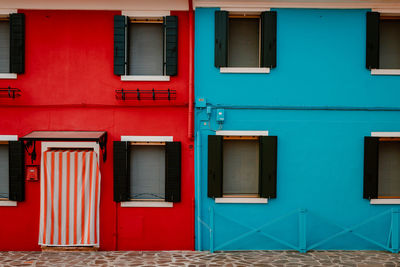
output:
[[209,136],[208,196],[275,198],[276,156],[276,136]]

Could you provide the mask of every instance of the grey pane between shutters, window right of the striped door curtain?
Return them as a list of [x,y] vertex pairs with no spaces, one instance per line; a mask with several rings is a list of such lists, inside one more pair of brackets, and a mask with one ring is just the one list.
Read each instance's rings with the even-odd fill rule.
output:
[[165,147],[131,147],[131,198],[165,198]]

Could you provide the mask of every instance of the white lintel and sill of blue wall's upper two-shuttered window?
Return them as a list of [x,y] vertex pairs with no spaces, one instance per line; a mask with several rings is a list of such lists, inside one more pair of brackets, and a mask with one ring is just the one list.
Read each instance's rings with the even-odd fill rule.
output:
[[[238,13],[261,13],[270,11],[270,8],[222,8],[221,11],[238,12]],[[227,40],[229,42],[229,40]],[[259,25],[259,60],[261,61],[261,19]],[[247,74],[268,74],[271,69],[268,67],[220,67],[220,73],[247,73]]]

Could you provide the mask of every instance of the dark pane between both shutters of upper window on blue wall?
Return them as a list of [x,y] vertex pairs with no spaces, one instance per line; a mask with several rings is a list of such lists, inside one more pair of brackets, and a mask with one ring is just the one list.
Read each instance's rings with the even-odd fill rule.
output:
[[259,66],[259,19],[229,19],[229,67]]

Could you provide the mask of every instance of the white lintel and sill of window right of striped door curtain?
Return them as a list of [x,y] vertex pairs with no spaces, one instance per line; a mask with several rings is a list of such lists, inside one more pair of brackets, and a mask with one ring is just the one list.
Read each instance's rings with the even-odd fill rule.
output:
[[[125,142],[173,142],[173,136],[138,136],[138,135],[123,135],[121,141]],[[121,202],[121,207],[124,208],[173,208],[173,202],[165,200],[140,200],[131,199],[130,201]]]

